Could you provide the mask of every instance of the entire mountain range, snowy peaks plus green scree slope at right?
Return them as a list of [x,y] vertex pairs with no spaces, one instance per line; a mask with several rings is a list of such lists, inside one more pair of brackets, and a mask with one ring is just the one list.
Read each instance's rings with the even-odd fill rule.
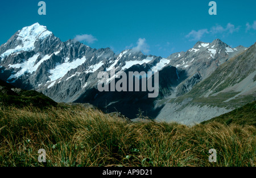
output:
[[[158,98],[147,92],[99,92],[100,71],[159,71]],[[90,103],[105,112],[138,114],[192,125],[241,107],[256,96],[256,43],[232,48],[220,39],[197,42],[167,58],[134,49],[115,54],[76,40],[62,42],[39,23],[0,46],[0,79],[56,102]],[[141,78],[140,78],[141,79]]]

